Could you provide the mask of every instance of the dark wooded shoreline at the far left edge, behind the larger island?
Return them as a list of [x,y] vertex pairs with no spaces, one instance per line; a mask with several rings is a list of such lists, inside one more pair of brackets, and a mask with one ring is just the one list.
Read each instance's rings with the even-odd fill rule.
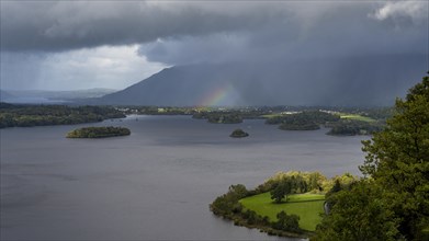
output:
[[71,125],[122,118],[125,115],[104,106],[15,105],[0,103],[0,128]]

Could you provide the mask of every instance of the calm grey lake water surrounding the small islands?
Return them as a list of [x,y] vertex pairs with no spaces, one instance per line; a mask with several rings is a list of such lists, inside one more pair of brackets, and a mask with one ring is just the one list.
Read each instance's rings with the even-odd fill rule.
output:
[[[263,120],[133,116],[90,125],[132,135],[65,138],[89,125],[1,130],[2,240],[278,240],[213,216],[208,204],[230,184],[255,187],[284,170],[358,174],[363,160],[362,137],[282,131]],[[237,127],[250,137],[229,138]]]

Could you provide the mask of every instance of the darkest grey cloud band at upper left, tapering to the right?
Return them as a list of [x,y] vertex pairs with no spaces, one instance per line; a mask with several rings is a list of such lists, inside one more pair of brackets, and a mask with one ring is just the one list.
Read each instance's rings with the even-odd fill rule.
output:
[[283,14],[211,11],[184,2],[8,1],[1,5],[1,48],[9,51],[58,51],[250,30]]

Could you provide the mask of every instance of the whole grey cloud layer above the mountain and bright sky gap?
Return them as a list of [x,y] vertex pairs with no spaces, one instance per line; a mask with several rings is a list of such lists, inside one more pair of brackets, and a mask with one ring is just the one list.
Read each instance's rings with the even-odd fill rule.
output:
[[[140,54],[174,64],[206,56],[224,60],[284,53],[416,51],[427,38],[427,4],[7,1],[1,4],[1,49],[60,51],[149,44]],[[305,49],[296,53],[300,48]]]

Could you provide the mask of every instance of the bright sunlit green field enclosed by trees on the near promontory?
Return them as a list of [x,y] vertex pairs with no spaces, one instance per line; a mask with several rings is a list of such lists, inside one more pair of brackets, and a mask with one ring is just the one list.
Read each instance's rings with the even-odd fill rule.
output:
[[300,227],[314,231],[321,221],[324,213],[325,195],[320,194],[295,194],[287,196],[287,203],[274,204],[270,193],[263,193],[240,199],[245,208],[255,210],[257,214],[267,216],[271,221],[276,220],[276,214],[284,210],[286,214],[300,216]]

